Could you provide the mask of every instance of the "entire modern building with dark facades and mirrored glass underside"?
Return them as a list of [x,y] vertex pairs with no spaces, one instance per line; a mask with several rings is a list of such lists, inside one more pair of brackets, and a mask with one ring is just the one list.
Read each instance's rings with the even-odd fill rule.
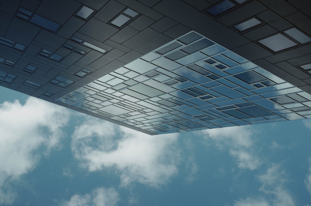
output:
[[2,0],[0,85],[151,135],[305,119],[310,8]]

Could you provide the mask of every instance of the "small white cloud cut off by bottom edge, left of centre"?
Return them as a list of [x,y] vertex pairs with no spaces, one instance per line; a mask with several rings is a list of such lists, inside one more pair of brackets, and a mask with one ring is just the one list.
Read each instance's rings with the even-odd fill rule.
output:
[[63,201],[61,206],[114,206],[119,201],[118,192],[114,188],[97,188],[90,194],[73,195],[69,201]]

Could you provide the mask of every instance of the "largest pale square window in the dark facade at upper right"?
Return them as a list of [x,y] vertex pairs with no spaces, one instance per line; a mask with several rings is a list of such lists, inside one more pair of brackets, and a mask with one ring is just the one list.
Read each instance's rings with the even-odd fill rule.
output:
[[287,49],[287,48],[294,47],[297,45],[295,42],[286,38],[282,34],[276,34],[274,36],[262,39],[258,42],[261,43],[262,45],[268,47],[273,52],[278,52],[278,51],[281,51],[283,49]]

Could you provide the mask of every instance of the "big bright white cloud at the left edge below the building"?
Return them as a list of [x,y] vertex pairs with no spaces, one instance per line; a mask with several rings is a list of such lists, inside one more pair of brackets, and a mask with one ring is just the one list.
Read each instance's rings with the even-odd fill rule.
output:
[[41,155],[60,146],[61,128],[68,118],[66,109],[33,97],[25,105],[18,101],[0,105],[0,204],[10,204],[16,197],[7,187],[9,180],[32,171]]

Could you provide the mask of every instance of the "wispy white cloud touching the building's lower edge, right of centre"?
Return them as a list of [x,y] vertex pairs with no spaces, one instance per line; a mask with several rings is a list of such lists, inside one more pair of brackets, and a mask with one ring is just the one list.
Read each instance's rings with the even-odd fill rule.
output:
[[237,161],[239,168],[257,169],[261,165],[258,155],[254,154],[253,134],[256,131],[251,127],[228,127],[199,131],[210,145],[219,149],[228,150]]

